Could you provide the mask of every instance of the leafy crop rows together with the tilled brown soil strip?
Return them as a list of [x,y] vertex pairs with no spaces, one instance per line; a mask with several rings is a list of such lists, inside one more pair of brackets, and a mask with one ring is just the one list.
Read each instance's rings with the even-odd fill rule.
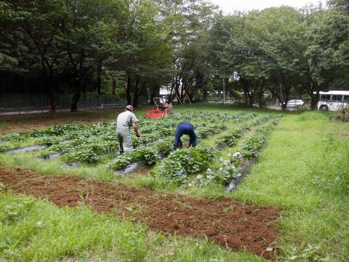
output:
[[[100,170],[106,172],[108,177],[99,174],[97,177],[86,177],[106,181],[118,179],[115,171],[143,161],[145,165],[150,166],[151,172],[141,178],[140,184],[143,183],[142,179],[152,181],[150,185],[154,189],[186,190],[212,186],[223,189],[232,179],[239,177],[238,168],[243,166],[248,158],[257,155],[279,118],[280,116],[268,114],[200,111],[176,114],[157,121],[141,118],[138,126],[142,136],[138,139],[132,135],[134,149],[123,155],[117,153],[118,141],[114,122],[92,126],[52,126],[29,134],[1,137],[3,154],[0,155],[0,160],[8,161],[10,165],[33,167],[33,170],[37,166],[42,168],[46,164],[52,164],[56,169],[56,172],[52,172],[53,175],[67,175],[62,172],[65,170],[70,170],[68,176],[75,171],[79,175],[82,169],[94,172]],[[176,127],[184,120],[190,120],[194,124],[198,146],[173,151]],[[215,135],[215,140],[208,141],[212,135]],[[18,145],[16,142],[31,144],[30,146],[36,144],[45,148],[37,148],[35,152],[16,153],[13,149]],[[237,147],[238,151],[225,156],[224,150],[232,147]],[[11,151],[11,154],[6,154],[6,151]],[[72,167],[67,167],[66,164]],[[278,209],[252,207],[229,199],[214,201],[178,194],[165,194],[163,197],[147,188],[134,191],[130,186],[120,188],[97,181],[41,177],[26,171],[17,171],[20,173],[17,177],[4,173],[1,179],[18,193],[26,192],[35,197],[48,196],[56,204],[71,207],[75,207],[77,202],[82,202],[91,205],[96,211],[116,212],[121,217],[132,215],[137,221],[147,221],[151,228],[161,232],[208,237],[223,247],[234,250],[245,247],[266,258],[270,258],[275,251],[277,231],[270,222],[278,218]],[[107,190],[102,189],[108,187],[110,188]],[[125,198],[126,191],[133,193]],[[162,216],[164,212],[167,216]],[[229,218],[235,222],[230,222]]]

